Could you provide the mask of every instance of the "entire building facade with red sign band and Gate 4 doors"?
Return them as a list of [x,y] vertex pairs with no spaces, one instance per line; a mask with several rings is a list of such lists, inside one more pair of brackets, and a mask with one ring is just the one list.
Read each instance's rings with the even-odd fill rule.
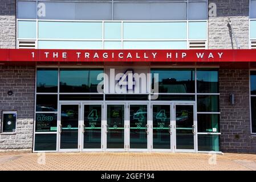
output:
[[256,153],[255,64],[216,58],[256,48],[256,0],[2,0],[0,25],[1,151]]

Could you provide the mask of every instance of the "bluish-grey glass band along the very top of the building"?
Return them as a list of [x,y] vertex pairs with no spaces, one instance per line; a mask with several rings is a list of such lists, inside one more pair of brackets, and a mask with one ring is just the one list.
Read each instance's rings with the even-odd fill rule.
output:
[[[140,2],[18,1],[19,19],[63,20],[205,20],[207,0]],[[39,11],[38,11],[39,10]],[[37,15],[37,12],[38,15]]]

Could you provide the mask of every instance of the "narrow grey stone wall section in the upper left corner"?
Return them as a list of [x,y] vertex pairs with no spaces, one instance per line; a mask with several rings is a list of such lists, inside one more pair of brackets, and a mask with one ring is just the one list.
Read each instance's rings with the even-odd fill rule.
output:
[[16,47],[16,1],[0,1],[0,48]]

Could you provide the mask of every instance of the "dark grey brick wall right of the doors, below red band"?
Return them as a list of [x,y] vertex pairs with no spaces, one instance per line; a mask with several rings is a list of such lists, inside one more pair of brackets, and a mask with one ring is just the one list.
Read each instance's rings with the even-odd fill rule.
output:
[[[234,94],[231,105],[229,95]],[[256,154],[256,135],[251,135],[248,69],[220,69],[220,147],[222,152]]]

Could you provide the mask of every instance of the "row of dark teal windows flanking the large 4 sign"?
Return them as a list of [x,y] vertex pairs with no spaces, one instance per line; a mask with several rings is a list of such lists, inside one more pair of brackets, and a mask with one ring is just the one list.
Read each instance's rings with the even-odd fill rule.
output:
[[[59,92],[96,93],[97,85],[101,82],[97,80],[100,73],[103,73],[103,69],[62,68],[59,72]],[[151,69],[151,73],[159,74],[159,93],[195,93],[194,69]],[[217,70],[198,69],[196,77],[197,93],[219,92]],[[37,93],[58,92],[58,69],[38,68],[36,78]]]

